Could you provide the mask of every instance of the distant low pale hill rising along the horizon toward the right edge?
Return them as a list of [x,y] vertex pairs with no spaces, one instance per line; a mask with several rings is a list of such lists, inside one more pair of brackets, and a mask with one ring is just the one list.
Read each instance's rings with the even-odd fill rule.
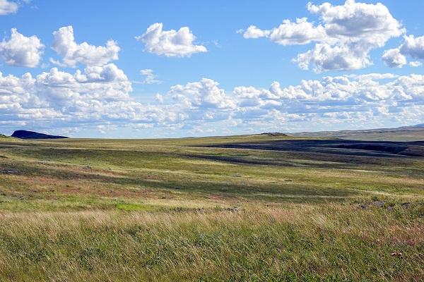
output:
[[332,137],[351,140],[423,141],[424,123],[402,126],[400,128],[300,132],[290,134],[296,137]]

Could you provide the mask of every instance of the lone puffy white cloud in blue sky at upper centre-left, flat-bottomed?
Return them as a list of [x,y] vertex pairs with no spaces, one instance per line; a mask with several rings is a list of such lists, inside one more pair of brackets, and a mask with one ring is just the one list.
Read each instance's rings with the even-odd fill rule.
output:
[[163,30],[162,23],[154,23],[136,39],[146,45],[144,51],[167,57],[192,56],[208,51],[203,45],[193,44],[196,37],[189,27],[181,27],[178,31]]

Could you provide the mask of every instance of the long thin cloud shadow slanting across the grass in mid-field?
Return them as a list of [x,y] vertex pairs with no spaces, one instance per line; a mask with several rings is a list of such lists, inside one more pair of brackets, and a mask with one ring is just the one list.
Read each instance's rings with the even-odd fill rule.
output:
[[[0,168],[1,168],[0,164]],[[314,185],[300,185],[281,180],[280,183],[230,183],[225,180],[180,180],[143,178],[143,176],[105,176],[96,173],[95,170],[88,172],[66,171],[64,167],[43,168],[30,166],[30,164],[15,164],[14,169],[20,171],[20,176],[40,176],[57,178],[59,180],[90,180],[101,184],[122,185],[123,187],[142,187],[153,190],[175,190],[183,193],[194,193],[202,197],[229,197],[245,198],[251,200],[273,199],[273,202],[312,202],[340,201],[340,197],[357,195],[358,192],[349,189],[326,188]],[[18,184],[18,183],[17,183]],[[285,197],[287,196],[287,197]],[[314,196],[317,196],[314,198]]]

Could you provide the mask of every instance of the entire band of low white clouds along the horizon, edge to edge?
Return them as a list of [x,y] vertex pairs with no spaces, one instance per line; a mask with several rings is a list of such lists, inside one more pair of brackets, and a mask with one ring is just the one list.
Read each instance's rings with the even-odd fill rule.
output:
[[[131,97],[131,82],[110,63],[75,73],[52,68],[21,77],[0,73],[0,124],[48,128],[114,128],[208,134],[318,130],[372,124],[420,123],[424,118],[424,75],[324,76],[297,85],[241,85],[224,90],[203,78],[170,87],[143,104]],[[42,121],[42,123],[40,123]],[[100,126],[99,126],[100,125]],[[228,130],[228,131],[225,131]],[[241,131],[240,131],[241,130]]]

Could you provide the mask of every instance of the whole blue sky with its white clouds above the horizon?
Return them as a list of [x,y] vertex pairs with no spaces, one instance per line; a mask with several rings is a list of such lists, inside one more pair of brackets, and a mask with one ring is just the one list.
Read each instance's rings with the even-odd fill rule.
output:
[[424,123],[424,1],[0,0],[0,133]]

